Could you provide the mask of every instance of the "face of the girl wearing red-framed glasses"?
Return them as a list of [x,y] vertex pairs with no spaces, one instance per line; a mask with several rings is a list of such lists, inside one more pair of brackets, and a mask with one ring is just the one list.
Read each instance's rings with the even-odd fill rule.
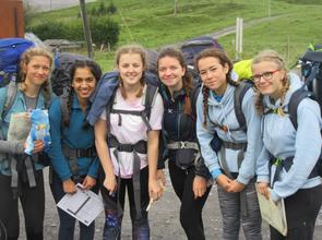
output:
[[253,81],[257,88],[263,95],[269,95],[275,99],[279,97],[283,88],[282,80],[286,71],[272,61],[262,61],[252,65]]

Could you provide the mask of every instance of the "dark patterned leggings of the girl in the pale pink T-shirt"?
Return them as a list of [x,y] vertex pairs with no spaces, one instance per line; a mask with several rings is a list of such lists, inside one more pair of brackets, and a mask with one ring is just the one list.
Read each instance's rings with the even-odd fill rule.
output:
[[[104,181],[104,173],[102,175]],[[147,219],[147,212],[145,211],[150,202],[148,196],[148,176],[147,167],[141,169],[140,175],[140,191],[141,191],[141,216],[138,217],[134,201],[134,191],[132,179],[120,179],[117,193],[109,195],[107,189],[102,184],[100,193],[105,206],[105,225],[104,225],[104,240],[120,240],[121,225],[124,209],[126,189],[128,189],[128,196],[130,202],[130,217],[132,221],[132,239],[133,240],[148,240],[150,226]],[[118,199],[119,197],[119,199]]]

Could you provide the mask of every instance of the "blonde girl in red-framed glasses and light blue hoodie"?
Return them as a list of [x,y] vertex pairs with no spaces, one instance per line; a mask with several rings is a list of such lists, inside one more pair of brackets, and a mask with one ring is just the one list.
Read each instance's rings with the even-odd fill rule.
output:
[[253,59],[252,72],[260,92],[257,109],[264,113],[264,146],[258,160],[258,189],[274,202],[284,199],[288,228],[284,237],[271,227],[271,239],[313,239],[322,203],[321,178],[314,168],[322,143],[319,104],[310,98],[302,99],[297,107],[295,128],[287,111],[291,95],[302,87],[300,79],[288,73],[283,59],[271,50]]

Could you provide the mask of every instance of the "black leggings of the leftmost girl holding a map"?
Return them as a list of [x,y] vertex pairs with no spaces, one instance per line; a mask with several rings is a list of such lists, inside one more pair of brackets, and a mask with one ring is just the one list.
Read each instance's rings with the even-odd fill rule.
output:
[[[24,217],[26,236],[28,240],[43,240],[45,217],[45,189],[43,170],[35,172],[37,185],[29,188],[28,182],[21,182],[21,195],[19,196]],[[1,232],[1,240],[19,238],[20,219],[17,199],[13,199],[11,177],[0,175],[0,220],[5,232]],[[3,230],[3,229],[1,229]]]

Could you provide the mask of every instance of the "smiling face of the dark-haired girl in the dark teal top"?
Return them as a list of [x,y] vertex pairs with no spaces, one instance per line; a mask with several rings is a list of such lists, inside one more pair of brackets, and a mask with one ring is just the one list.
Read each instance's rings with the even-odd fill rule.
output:
[[95,91],[96,79],[88,68],[77,68],[72,81],[72,87],[79,100],[87,100]]

